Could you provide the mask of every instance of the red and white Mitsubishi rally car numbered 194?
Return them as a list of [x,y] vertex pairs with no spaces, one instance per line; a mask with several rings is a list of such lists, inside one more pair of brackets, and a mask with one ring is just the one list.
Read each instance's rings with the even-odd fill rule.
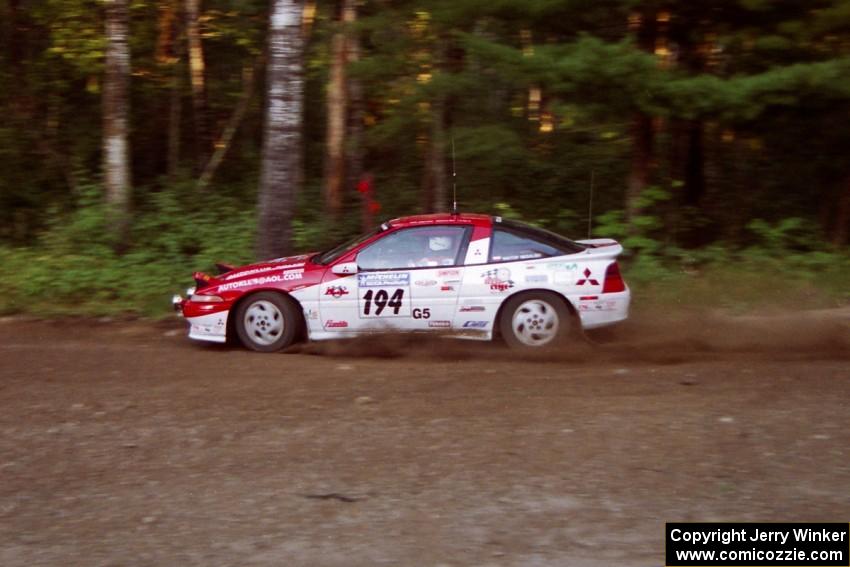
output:
[[174,306],[190,338],[264,352],[391,330],[539,347],[628,317],[622,251],[500,217],[412,216],[327,252],[195,274]]

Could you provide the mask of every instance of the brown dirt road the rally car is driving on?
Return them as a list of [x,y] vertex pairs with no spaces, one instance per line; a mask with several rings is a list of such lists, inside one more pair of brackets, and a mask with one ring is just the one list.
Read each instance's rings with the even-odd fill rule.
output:
[[257,355],[0,322],[0,565],[663,565],[666,521],[848,521],[846,320],[518,357]]

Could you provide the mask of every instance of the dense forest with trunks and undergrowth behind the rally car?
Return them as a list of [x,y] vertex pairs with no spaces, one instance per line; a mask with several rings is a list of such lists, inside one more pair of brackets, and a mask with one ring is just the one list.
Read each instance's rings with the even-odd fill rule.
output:
[[0,313],[482,212],[635,302],[850,302],[850,0],[2,0]]

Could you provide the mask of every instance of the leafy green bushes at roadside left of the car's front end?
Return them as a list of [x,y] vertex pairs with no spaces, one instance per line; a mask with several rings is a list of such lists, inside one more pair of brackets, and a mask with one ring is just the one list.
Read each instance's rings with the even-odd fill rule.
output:
[[151,195],[132,228],[137,244],[122,254],[109,241],[100,202],[88,187],[73,211],[53,213],[37,245],[0,248],[0,311],[161,316],[193,271],[253,257],[254,212],[235,201],[177,189]]

